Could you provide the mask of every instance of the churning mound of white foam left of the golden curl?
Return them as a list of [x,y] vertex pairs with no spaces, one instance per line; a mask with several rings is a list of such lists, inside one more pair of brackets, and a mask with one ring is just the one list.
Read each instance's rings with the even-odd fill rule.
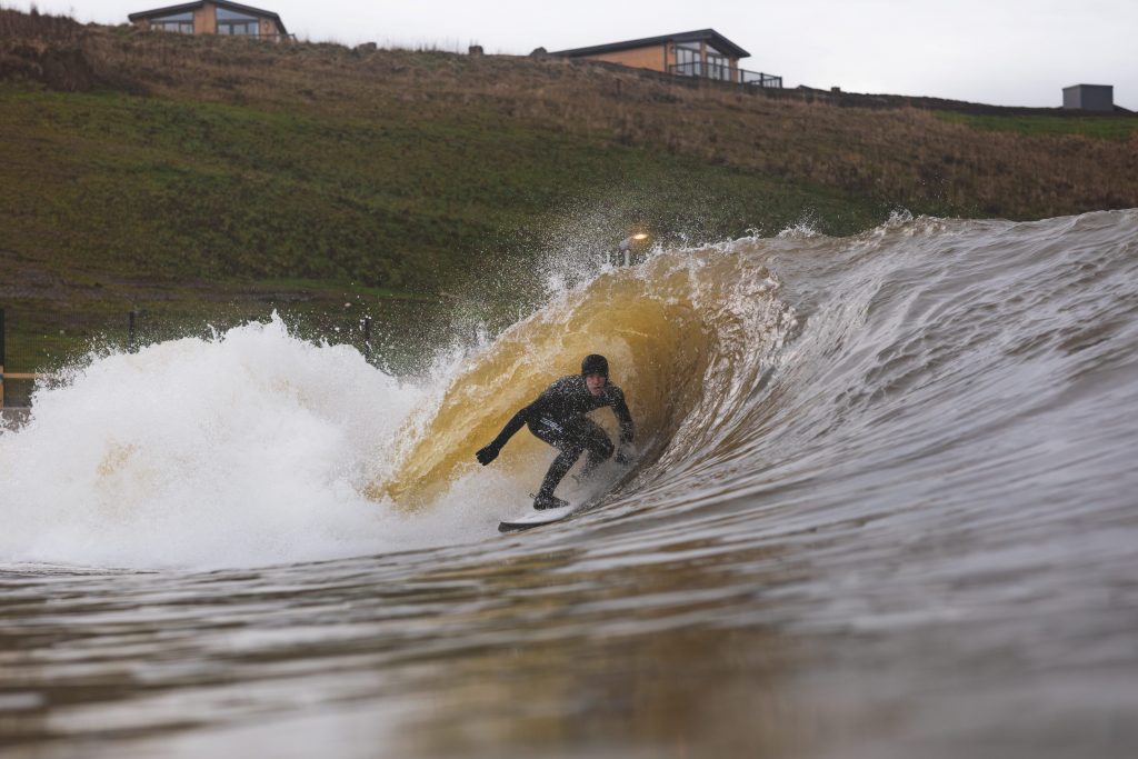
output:
[[92,357],[0,434],[0,563],[241,567],[445,544],[362,495],[424,396],[283,323]]

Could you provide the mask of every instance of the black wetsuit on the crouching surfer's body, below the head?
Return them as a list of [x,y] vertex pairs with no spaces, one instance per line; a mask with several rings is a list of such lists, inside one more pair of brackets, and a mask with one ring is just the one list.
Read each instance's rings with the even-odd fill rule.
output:
[[552,496],[553,489],[583,452],[588,451],[585,464],[587,470],[612,455],[612,440],[600,424],[585,416],[602,406],[611,406],[617,415],[620,422],[620,443],[632,443],[633,418],[628,413],[624,390],[616,385],[605,383],[600,395],[593,395],[585,385],[584,377],[569,374],[547,387],[536,401],[516,413],[486,447],[493,449],[496,456],[522,424],[528,426],[536,437],[561,452],[542,481],[541,494]]

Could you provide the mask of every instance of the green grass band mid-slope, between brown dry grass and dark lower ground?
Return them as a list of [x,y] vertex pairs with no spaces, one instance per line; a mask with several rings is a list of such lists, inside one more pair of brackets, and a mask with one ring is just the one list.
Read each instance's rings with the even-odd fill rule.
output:
[[0,108],[0,159],[19,198],[11,244],[146,278],[430,291],[470,251],[511,247],[568,205],[624,205],[635,218],[616,225],[712,237],[806,214],[841,233],[879,213],[840,192],[496,116],[385,123],[11,85]]

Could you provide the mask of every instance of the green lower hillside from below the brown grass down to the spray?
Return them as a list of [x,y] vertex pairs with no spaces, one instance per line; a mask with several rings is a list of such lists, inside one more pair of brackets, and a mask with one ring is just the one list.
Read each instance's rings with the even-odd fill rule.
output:
[[[0,112],[9,371],[123,347],[132,310],[145,312],[139,343],[279,311],[333,340],[358,338],[352,324],[372,315],[413,345],[426,321],[451,317],[439,291],[506,269],[517,302],[535,284],[528,262],[559,245],[601,250],[644,226],[666,241],[801,221],[841,234],[888,213],[494,112],[386,121],[10,83]],[[22,271],[56,286],[40,294]]]

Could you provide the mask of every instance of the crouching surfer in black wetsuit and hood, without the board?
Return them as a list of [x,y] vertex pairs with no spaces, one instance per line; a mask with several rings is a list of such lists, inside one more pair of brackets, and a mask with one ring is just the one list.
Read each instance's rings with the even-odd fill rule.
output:
[[618,464],[628,463],[626,446],[633,442],[633,418],[628,413],[624,391],[609,382],[609,362],[604,356],[589,354],[580,362],[580,374],[562,377],[545,389],[537,399],[516,413],[498,436],[476,457],[483,467],[497,459],[502,446],[521,429],[522,424],[538,439],[560,451],[542,480],[542,488],[534,498],[534,509],[559,509],[569,505],[553,496],[553,490],[577,462],[588,452],[583,477],[593,473],[601,462],[613,454],[612,440],[600,424],[585,416],[601,406],[611,406],[620,422],[620,448],[616,451]]

